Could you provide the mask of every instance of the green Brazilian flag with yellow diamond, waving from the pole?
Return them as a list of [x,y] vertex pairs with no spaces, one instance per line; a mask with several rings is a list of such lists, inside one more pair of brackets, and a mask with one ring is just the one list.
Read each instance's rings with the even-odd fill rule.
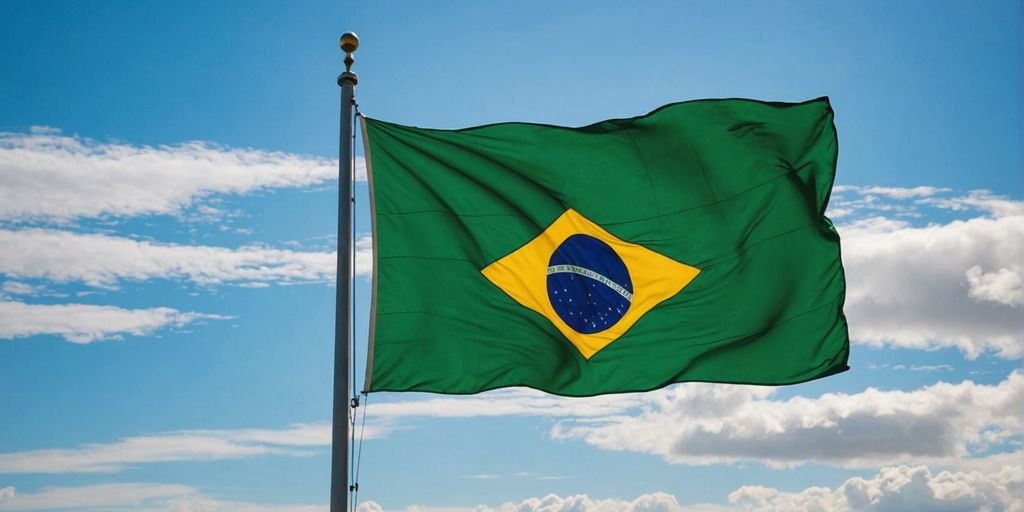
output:
[[369,391],[587,396],[848,368],[827,98],[362,127]]

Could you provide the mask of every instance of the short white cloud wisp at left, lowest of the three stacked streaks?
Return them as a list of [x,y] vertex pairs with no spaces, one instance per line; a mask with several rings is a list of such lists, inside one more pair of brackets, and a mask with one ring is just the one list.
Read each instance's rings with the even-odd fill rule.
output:
[[124,309],[89,304],[26,304],[0,299],[0,339],[50,334],[73,343],[145,336],[201,319],[225,316],[182,312],[169,307]]

